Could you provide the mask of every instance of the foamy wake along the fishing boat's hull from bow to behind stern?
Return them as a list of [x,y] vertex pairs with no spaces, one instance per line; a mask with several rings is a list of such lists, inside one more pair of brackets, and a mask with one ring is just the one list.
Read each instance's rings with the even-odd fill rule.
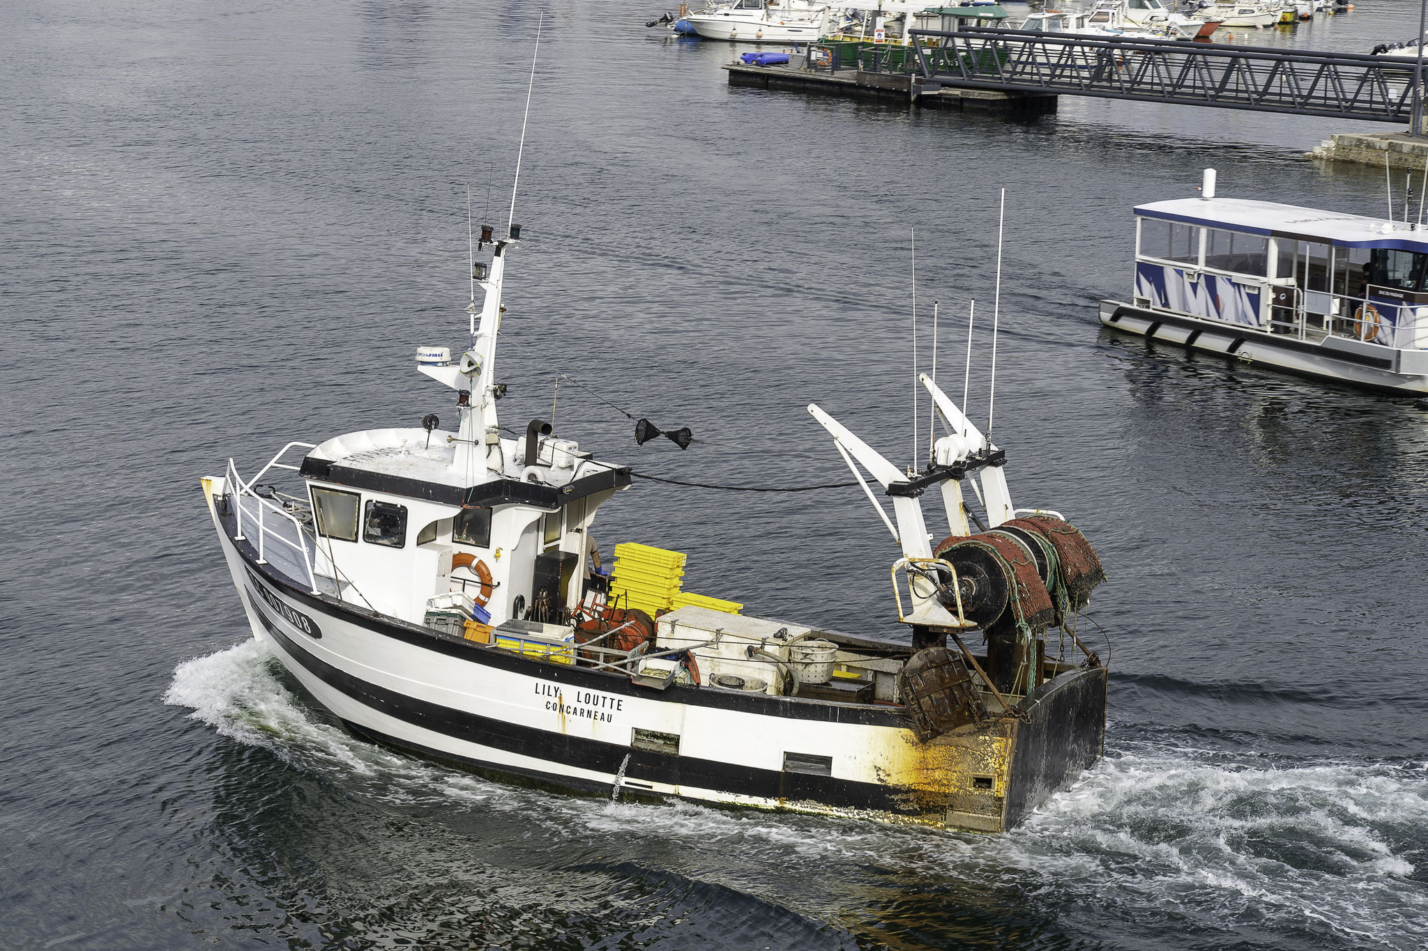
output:
[[[1407,950],[1428,931],[1424,761],[1168,746],[1112,723],[1105,760],[1071,788],[1011,833],[974,836],[691,803],[593,804],[491,783],[351,737],[294,694],[251,640],[180,664],[164,701],[371,801],[518,817],[521,834],[540,828],[551,853],[575,844],[608,854],[618,843],[631,868],[751,888],[840,932],[895,944],[925,941],[950,901],[988,920],[1031,907],[1052,931],[1128,945],[1155,922],[1184,947]],[[815,898],[774,894],[790,863],[823,870]],[[894,904],[883,898],[888,875]],[[1158,942],[1174,947],[1164,932]]]

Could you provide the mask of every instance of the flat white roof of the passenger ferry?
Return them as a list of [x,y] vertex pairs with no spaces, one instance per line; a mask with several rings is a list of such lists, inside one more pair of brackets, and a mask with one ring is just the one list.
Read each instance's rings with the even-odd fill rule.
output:
[[1341,248],[1397,248],[1399,251],[1428,252],[1428,231],[1409,231],[1407,224],[1395,222],[1392,231],[1385,234],[1384,227],[1388,221],[1384,218],[1281,205],[1275,201],[1175,198],[1137,205],[1135,214],[1144,218],[1181,221],[1277,238],[1319,241]]

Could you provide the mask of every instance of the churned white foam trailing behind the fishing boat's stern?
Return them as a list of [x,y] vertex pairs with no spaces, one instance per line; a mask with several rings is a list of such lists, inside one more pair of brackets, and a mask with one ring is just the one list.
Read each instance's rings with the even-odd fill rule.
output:
[[[1428,783],[1394,764],[1272,766],[1195,750],[1108,757],[1002,838],[1025,868],[1197,925],[1421,947]],[[1070,885],[1074,891],[1074,885]]]

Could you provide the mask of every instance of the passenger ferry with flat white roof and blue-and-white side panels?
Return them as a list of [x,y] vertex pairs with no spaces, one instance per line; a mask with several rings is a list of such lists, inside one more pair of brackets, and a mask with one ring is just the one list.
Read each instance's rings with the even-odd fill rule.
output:
[[1428,232],[1271,201],[1135,208],[1131,301],[1101,322],[1155,341],[1375,391],[1428,394]]

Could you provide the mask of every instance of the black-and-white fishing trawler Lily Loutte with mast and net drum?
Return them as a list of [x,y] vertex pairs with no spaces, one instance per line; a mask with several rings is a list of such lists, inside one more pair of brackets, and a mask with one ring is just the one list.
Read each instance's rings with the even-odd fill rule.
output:
[[[910,642],[623,603],[590,529],[631,471],[538,419],[503,435],[497,418],[518,240],[511,227],[490,269],[474,264],[468,345],[417,351],[454,429],[428,415],[290,442],[248,479],[231,461],[203,479],[254,637],[321,706],[358,736],[498,777],[982,831],[1101,756],[1107,669],[1074,624],[1104,580],[1095,552],[1058,515],[1012,508],[1004,451],[927,376],[945,435],[922,472],[808,408],[880,513],[891,500],[900,550],[863,582],[887,585],[891,565]],[[296,490],[266,483],[277,475]]]

